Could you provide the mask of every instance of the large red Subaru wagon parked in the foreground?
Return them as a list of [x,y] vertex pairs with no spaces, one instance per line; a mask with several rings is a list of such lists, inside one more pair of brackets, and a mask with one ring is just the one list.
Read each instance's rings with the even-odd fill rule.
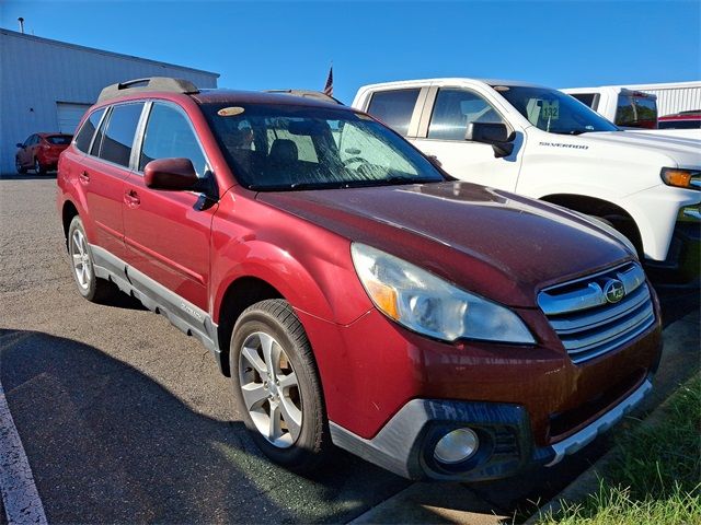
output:
[[624,237],[458,182],[367,114],[150,79],[79,129],[57,201],[79,292],[200,340],[275,462],[333,443],[407,478],[512,476],[651,390],[659,311]]

